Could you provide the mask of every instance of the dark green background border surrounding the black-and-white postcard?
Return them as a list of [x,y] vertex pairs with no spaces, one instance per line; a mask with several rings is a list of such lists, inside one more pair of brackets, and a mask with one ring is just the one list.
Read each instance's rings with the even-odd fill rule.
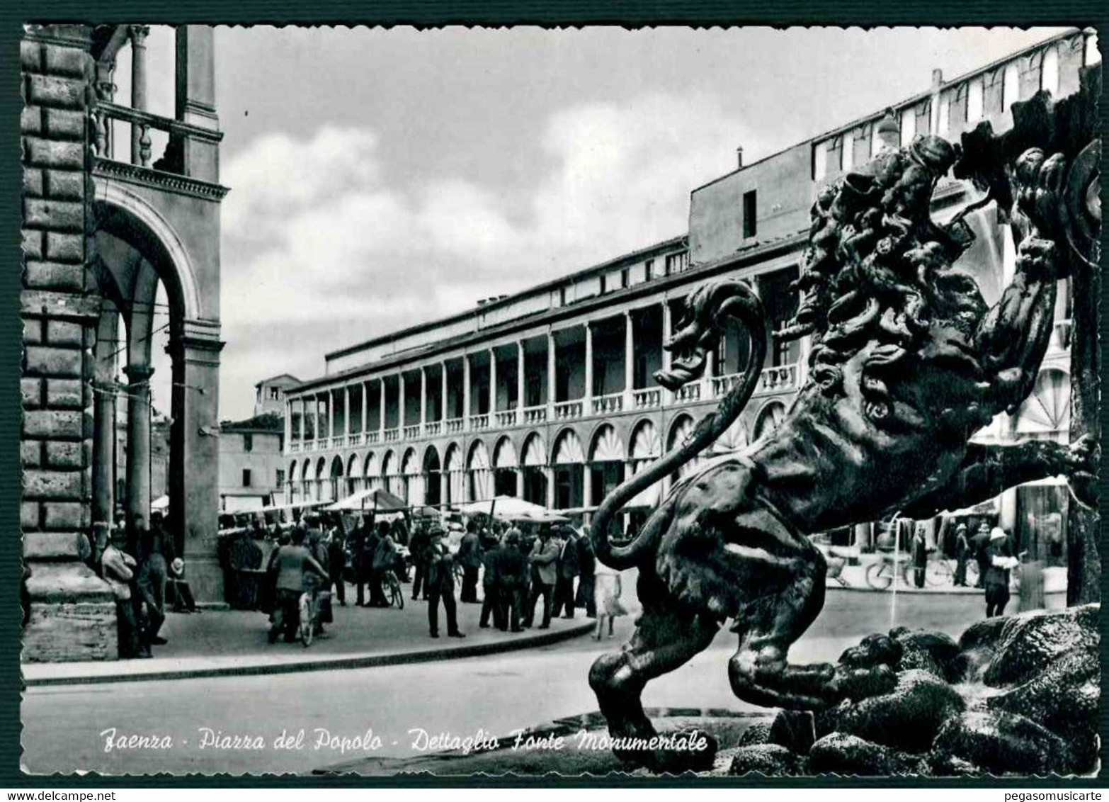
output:
[[[21,328],[19,319],[20,290],[20,143],[19,112],[22,108],[19,80],[19,39],[22,24],[38,22],[203,22],[203,23],[366,23],[366,24],[417,24],[435,27],[450,23],[484,26],[507,26],[519,23],[559,26],[623,24],[644,26],[718,26],[718,24],[840,24],[840,26],[893,26],[893,24],[1018,24],[1018,26],[1093,26],[1101,32],[1102,51],[1107,49],[1106,33],[1109,19],[1109,1],[1083,0],[1081,2],[1027,0],[943,0],[939,2],[908,2],[906,0],[853,0],[831,2],[827,0],[777,0],[777,2],[722,2],[719,0],[696,0],[684,2],[600,2],[599,0],[573,2],[537,0],[496,0],[486,2],[437,2],[436,0],[378,0],[369,3],[344,2],[343,0],[174,0],[172,2],[141,2],[139,0],[95,0],[89,2],[26,2],[26,0],[0,1],[0,786],[3,788],[50,788],[55,790],[85,788],[182,788],[182,786],[303,786],[307,783],[336,786],[396,785],[397,780],[385,778],[327,778],[309,779],[301,776],[282,778],[230,778],[217,776],[153,776],[153,778],[50,778],[27,776],[20,772],[20,608],[18,588],[20,581],[20,537],[19,537],[19,426],[20,394],[19,365],[21,354]],[[250,80],[244,77],[244,80]],[[736,80],[743,80],[736,77]],[[1109,83],[1102,81],[1102,92]],[[1106,130],[1109,103],[1102,97],[1101,130]],[[1105,170],[1102,169],[1102,174]],[[1106,195],[1102,189],[1102,209]],[[1105,248],[1102,248],[1105,251]],[[1102,308],[1109,294],[1109,281],[1102,281]],[[1101,342],[1106,336],[1106,315],[1101,318]],[[1109,359],[1102,356],[1102,375]],[[1109,383],[1102,383],[1109,387]],[[1109,432],[1106,409],[1101,410],[1102,432]],[[1107,449],[1109,450],[1109,449]],[[1109,500],[1107,478],[1109,471],[1101,471],[1102,520],[1107,519],[1106,500]],[[1102,547],[1102,562],[1105,548]],[[1109,571],[1102,576],[1102,596],[1109,579]],[[1105,625],[1102,623],[1102,630]],[[1102,666],[1106,664],[1107,643],[1101,644]],[[1102,700],[1109,699],[1107,686],[1109,672],[1102,671]],[[584,682],[584,678],[582,678]],[[172,688],[167,688],[172,693]],[[476,700],[477,701],[477,700]],[[151,710],[152,718],[157,715]],[[1101,713],[1102,765],[1106,764],[1106,743],[1109,728],[1106,722],[1106,707]],[[1102,771],[1106,771],[1105,769]],[[798,788],[844,786],[957,786],[981,785],[980,782],[912,780],[842,780],[822,778],[816,781],[776,780],[640,780],[629,778],[590,779],[588,782],[557,778],[529,780],[440,780],[436,778],[406,778],[401,782],[411,785],[442,784],[563,784],[563,785],[788,785]],[[993,780],[988,786],[1030,788],[1034,785],[1099,786],[1099,781],[1036,782],[1032,780]]]

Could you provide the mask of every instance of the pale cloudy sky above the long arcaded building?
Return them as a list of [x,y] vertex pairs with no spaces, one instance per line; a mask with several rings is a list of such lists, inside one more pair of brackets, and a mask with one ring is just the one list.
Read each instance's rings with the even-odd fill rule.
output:
[[[684,233],[737,145],[769,155],[1052,32],[217,29],[221,417],[328,351]],[[150,44],[166,113],[172,32]]]

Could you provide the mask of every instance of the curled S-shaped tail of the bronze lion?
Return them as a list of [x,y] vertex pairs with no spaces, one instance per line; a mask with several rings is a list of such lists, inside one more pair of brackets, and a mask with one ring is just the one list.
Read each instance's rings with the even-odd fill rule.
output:
[[613,546],[609,539],[612,517],[644,489],[711,446],[740,416],[755,390],[766,356],[766,315],[754,291],[735,278],[708,282],[690,296],[678,331],[664,346],[667,351],[681,352],[686,356],[675,359],[670,370],[655,373],[654,378],[671,390],[700,378],[704,373],[705,354],[719,342],[726,317],[734,317],[742,323],[751,341],[741,378],[724,396],[720,406],[701,418],[693,434],[683,444],[621,484],[601,501],[590,524],[590,538],[597,559],[611,568],[622,570],[639,565],[644,556],[653,554],[654,540],[661,531],[655,527],[644,529],[640,537],[627,546]]

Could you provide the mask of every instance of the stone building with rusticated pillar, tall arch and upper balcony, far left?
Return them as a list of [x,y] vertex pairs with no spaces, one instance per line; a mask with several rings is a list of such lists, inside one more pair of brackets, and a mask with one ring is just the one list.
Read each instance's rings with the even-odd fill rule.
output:
[[[114,599],[87,560],[94,525],[113,526],[118,505],[128,520],[150,514],[150,322],[160,283],[174,374],[171,527],[195,566],[199,596],[220,592],[218,210],[226,189],[217,183],[212,31],[174,31],[174,118],[145,109],[147,32],[29,26],[21,42],[24,660],[116,656]],[[123,48],[132,50],[130,105],[114,99]],[[151,131],[166,142],[156,161]],[[116,143],[116,132],[131,141]],[[115,375],[121,352],[125,383]],[[128,460],[118,498],[121,398]]]

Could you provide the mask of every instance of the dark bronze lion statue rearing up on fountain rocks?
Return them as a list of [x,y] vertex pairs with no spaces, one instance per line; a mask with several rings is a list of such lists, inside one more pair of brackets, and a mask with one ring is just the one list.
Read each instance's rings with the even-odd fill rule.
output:
[[[788,661],[824,605],[826,566],[808,535],[893,511],[930,517],[1047,476],[1092,475],[1090,439],[969,444],[1031,392],[1056,283],[1070,267],[1058,212],[1066,160],[1029,149],[1009,170],[1013,203],[1001,207],[1019,243],[1016,274],[987,307],[958,266],[969,230],[960,219],[939,226],[930,216],[937,182],[958,154],[938,136],[917,136],[821,192],[798,311],[773,335],[812,337],[792,406],[760,441],[676,483],[638,537],[618,547],[612,516],[711,445],[743,410],[763,366],[767,323],[746,283],[711,281],[688,300],[667,343],[673,367],[655,374],[661,385],[675,389],[702,374],[729,316],[745,328],[750,356],[741,380],[688,440],[613,490],[593,518],[598,559],[639,569],[643,608],[631,640],[599,658],[589,677],[618,741],[650,742],[657,733],[640,702],[644,686],[705,649],[729,620],[739,649],[728,672],[740,699],[821,709],[889,690],[895,677],[885,666]],[[618,750],[654,771],[706,769],[714,752],[711,742],[696,752]]]

